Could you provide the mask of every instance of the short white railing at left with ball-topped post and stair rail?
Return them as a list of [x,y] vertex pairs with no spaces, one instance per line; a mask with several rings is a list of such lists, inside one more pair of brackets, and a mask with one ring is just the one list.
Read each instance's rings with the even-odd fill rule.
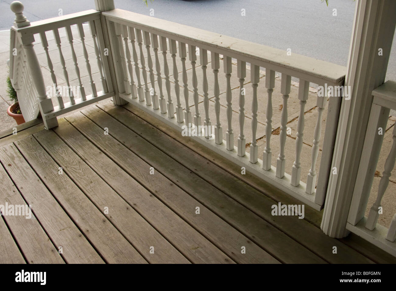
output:
[[[101,28],[100,11],[88,10],[30,23],[22,14],[23,5],[20,2],[13,2],[11,4],[11,10],[15,13],[16,18],[14,26],[11,28],[10,63],[12,65],[10,73],[13,77],[13,84],[17,86],[16,89],[19,104],[23,115],[27,116],[26,120],[36,118],[39,111],[38,108],[40,108],[44,125],[47,128],[51,128],[57,126],[56,116],[114,95],[109,64],[107,63],[107,57],[105,57],[103,50],[103,48],[105,48],[105,44]],[[83,23],[86,22],[89,24],[88,33],[89,36],[92,37],[93,44],[95,46],[96,59],[93,60],[89,60],[85,44],[85,34],[87,32],[84,30],[84,27],[86,26],[83,25]],[[75,36],[73,36],[71,29],[72,26],[76,26],[78,30],[78,37],[76,38],[78,40],[78,44],[75,43]],[[68,39],[66,44],[61,43],[61,37],[59,34],[60,29],[65,29],[66,31]],[[56,59],[56,62],[60,62],[63,70],[63,78],[66,83],[65,86],[63,86],[66,88],[64,90],[61,90],[58,87],[60,82],[57,80],[54,71],[53,63],[55,63],[55,61],[53,60],[53,57],[50,56],[48,36],[53,37],[53,42],[55,42],[55,46],[59,52],[59,58]],[[43,52],[46,54],[47,64],[52,80],[50,84],[44,83],[36,51],[33,49],[33,42],[36,38],[41,41]],[[82,50],[84,52],[85,66],[89,77],[89,81],[87,82],[88,84],[83,84],[82,77],[80,76],[80,65],[77,63],[75,52],[76,46],[82,46]],[[71,68],[71,70],[75,72],[78,79],[78,86],[76,87],[78,87],[79,90],[79,98],[75,98],[74,95],[76,93],[73,92],[70,84],[70,68],[67,68],[65,65],[63,52],[65,47],[69,49],[72,54],[74,68]],[[15,56],[12,55],[14,48],[16,48],[17,51]],[[101,75],[100,84],[95,84],[92,78],[91,67],[96,65],[99,68]],[[27,68],[30,69],[28,73]],[[17,79],[15,79],[15,76]],[[18,86],[19,83],[22,83],[21,87]],[[51,101],[50,96],[48,96],[48,86],[56,88],[56,90],[54,90],[54,94],[56,95],[57,104],[55,105]],[[62,95],[64,93],[66,93],[66,97],[69,98],[69,101],[65,102],[63,100],[63,97],[65,96]]]

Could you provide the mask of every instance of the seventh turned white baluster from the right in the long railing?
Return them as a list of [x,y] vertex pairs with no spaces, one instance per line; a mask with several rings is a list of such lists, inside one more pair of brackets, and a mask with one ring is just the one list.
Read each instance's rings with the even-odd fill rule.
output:
[[227,101],[227,133],[226,133],[226,143],[227,150],[234,149],[234,133],[232,132],[232,92],[231,92],[231,72],[232,72],[232,63],[231,57],[223,56],[223,67],[225,78],[227,80],[227,89],[226,89],[226,101]]

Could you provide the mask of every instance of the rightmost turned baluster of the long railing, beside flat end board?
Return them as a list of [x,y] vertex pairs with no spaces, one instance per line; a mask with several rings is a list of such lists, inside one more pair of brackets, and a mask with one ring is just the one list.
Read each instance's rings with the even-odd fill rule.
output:
[[319,140],[320,133],[322,131],[322,113],[327,101],[327,92],[325,92],[324,96],[316,99],[316,107],[318,107],[318,118],[316,119],[315,131],[314,131],[314,140],[312,141],[312,153],[311,153],[311,168],[309,169],[309,173],[307,175],[307,188],[305,192],[307,194],[313,194],[315,192],[315,184],[316,184],[316,160],[318,159],[319,154]]

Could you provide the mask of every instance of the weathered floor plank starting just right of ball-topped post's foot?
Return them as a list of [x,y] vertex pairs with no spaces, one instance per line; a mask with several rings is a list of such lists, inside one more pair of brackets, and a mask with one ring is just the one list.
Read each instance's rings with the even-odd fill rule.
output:
[[[81,135],[65,119],[59,120],[55,129],[67,145],[101,177],[107,177],[109,185],[132,205],[185,257],[193,263],[232,263],[233,261],[215,245],[204,238],[192,226],[131,178],[124,170]],[[131,189],[134,189],[131,191]],[[188,261],[186,261],[188,262]]]

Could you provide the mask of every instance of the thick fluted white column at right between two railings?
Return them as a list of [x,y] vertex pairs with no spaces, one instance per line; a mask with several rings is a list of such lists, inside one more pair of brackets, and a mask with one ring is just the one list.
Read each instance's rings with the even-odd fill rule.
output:
[[341,103],[321,225],[323,232],[331,237],[348,235],[345,226],[373,102],[371,92],[385,80],[395,21],[394,0],[359,0],[356,3],[345,76],[345,85],[351,88],[350,99],[343,99]]

